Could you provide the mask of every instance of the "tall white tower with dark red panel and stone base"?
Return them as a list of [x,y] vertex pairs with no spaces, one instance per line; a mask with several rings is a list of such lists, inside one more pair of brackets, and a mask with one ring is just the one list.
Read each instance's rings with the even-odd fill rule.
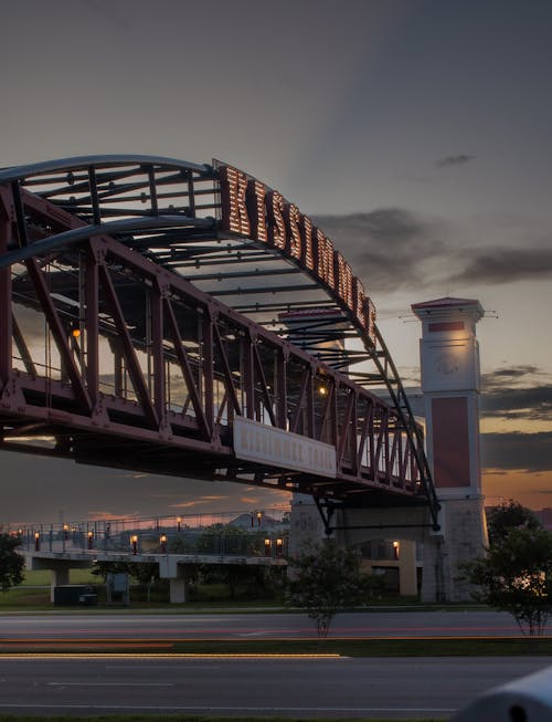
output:
[[[481,556],[487,543],[479,452],[479,346],[476,324],[485,312],[473,299],[416,303],[425,406],[427,459],[442,511],[440,537],[427,550],[424,575],[434,574],[435,597],[460,601],[470,590],[456,582],[457,565]],[[433,550],[433,552],[432,552]],[[440,578],[438,578],[440,576]],[[428,596],[428,599],[432,595]]]

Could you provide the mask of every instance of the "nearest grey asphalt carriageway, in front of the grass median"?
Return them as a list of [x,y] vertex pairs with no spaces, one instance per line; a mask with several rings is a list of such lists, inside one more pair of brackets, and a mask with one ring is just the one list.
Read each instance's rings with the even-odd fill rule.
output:
[[0,714],[448,718],[537,658],[0,657]]

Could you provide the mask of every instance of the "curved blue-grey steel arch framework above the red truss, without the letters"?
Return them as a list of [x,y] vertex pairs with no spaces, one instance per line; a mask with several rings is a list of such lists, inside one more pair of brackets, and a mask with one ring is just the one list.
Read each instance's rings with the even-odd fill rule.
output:
[[[438,504],[423,453],[422,431],[378,326],[371,335],[359,333],[358,323],[343,304],[336,299],[320,301],[319,292],[327,296],[327,289],[321,289],[316,279],[312,282],[308,269],[284,258],[277,248],[224,230],[219,180],[216,163],[199,165],[156,156],[85,156],[3,169],[0,186],[10,188],[18,231],[17,244],[6,250],[0,268],[31,258],[63,255],[72,244],[109,236],[149,260],[177,270],[199,287],[205,290],[205,284],[214,282],[214,289],[206,291],[223,296],[240,313],[294,342],[300,338],[307,352],[329,366],[347,369],[355,383],[386,389],[411,441],[436,524]],[[29,222],[31,193],[70,213],[75,227],[56,232],[54,221],[50,228],[34,229]],[[229,266],[241,270],[229,272]],[[294,282],[278,283],[285,275]],[[307,275],[309,283],[297,282],[298,275]],[[268,278],[268,283],[263,281],[258,286],[262,276]],[[237,280],[243,285],[235,286]],[[273,301],[277,295],[285,300]],[[253,303],[243,303],[244,297],[252,296]],[[262,302],[259,296],[264,296]],[[320,308],[328,312],[329,321],[323,315],[310,315]],[[299,317],[300,333],[297,324],[290,326],[283,321],[294,313],[295,318]],[[362,350],[346,348],[352,337],[360,337]],[[367,363],[371,372],[354,369]]]

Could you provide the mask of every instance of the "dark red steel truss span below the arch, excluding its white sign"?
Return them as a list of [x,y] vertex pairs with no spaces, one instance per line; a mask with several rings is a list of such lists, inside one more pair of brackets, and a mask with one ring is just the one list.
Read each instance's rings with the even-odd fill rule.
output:
[[[307,353],[200,290],[171,265],[174,257],[194,263],[184,250],[152,258],[151,228],[129,230],[142,220],[126,221],[117,239],[106,233],[97,188],[92,219],[19,182],[0,200],[0,449],[348,505],[432,501],[421,436],[401,408],[333,368],[333,352]],[[214,219],[163,218],[172,244],[220,242]],[[240,458],[237,417],[331,447],[336,473]]]

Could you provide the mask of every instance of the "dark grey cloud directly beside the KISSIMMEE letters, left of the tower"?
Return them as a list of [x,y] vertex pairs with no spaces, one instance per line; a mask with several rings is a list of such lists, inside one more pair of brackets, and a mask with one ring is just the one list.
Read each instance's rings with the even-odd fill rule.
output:
[[343,252],[371,292],[420,287],[428,259],[446,254],[443,223],[401,208],[317,216],[312,220]]

